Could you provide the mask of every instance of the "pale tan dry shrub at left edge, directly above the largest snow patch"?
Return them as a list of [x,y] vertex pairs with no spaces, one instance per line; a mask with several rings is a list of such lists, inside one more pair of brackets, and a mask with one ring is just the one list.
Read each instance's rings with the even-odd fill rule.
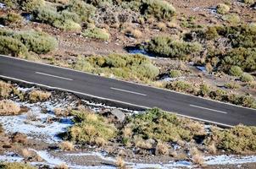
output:
[[0,101],[0,116],[18,115],[20,107],[14,101],[3,100]]

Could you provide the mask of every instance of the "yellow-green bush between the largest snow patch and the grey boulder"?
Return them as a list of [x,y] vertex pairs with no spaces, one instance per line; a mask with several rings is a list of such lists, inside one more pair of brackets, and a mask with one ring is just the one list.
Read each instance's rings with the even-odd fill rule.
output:
[[92,112],[73,111],[75,125],[69,129],[69,139],[81,144],[103,145],[116,135],[108,120]]

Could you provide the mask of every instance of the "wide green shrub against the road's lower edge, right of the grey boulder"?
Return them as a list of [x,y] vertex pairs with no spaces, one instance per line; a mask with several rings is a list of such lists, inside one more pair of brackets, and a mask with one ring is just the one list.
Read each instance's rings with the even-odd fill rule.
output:
[[141,137],[142,139],[155,139],[162,142],[177,142],[179,140],[190,141],[194,135],[204,133],[198,123],[191,123],[158,108],[133,115],[127,121],[126,126],[131,128],[134,138]]

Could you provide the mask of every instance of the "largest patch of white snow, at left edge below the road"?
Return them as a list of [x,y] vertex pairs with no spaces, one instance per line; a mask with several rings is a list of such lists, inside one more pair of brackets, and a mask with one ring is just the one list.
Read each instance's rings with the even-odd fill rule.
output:
[[[19,132],[27,134],[30,138],[40,139],[49,144],[61,141],[57,137],[58,134],[64,133],[72,123],[72,117],[56,118],[53,114],[55,107],[61,106],[60,104],[51,103],[50,101],[42,104],[29,104],[19,103],[19,106],[28,106],[30,112],[18,116],[3,116],[0,118],[3,128],[8,133]],[[42,113],[42,107],[47,109],[47,113]],[[36,117],[36,121],[31,121],[30,117]],[[49,119],[53,119],[48,122]]]

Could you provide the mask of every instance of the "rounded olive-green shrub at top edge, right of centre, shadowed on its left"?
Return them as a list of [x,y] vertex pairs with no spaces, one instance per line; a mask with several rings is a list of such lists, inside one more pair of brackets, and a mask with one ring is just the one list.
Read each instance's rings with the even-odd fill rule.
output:
[[175,8],[163,0],[142,0],[141,13],[169,20],[175,15]]

